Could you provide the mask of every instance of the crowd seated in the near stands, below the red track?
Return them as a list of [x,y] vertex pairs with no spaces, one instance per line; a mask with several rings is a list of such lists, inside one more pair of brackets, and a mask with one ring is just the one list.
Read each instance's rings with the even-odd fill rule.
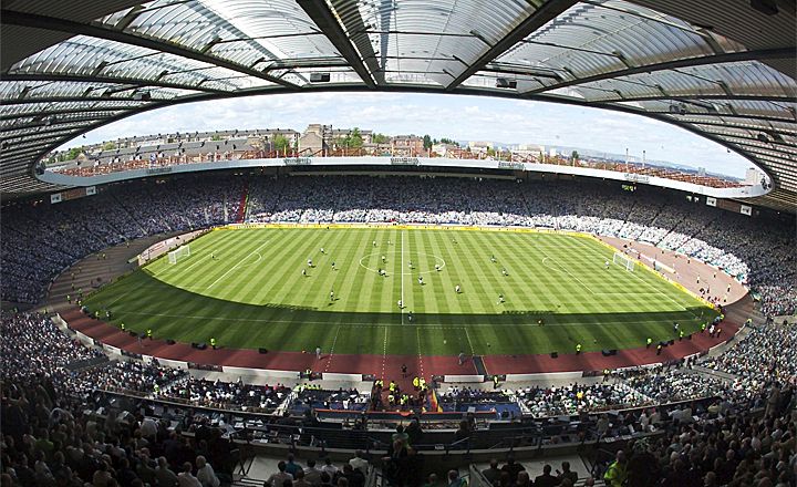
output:
[[[244,402],[249,401],[247,397],[256,396],[257,392],[261,397],[290,392],[284,387],[255,387],[240,382],[196,379],[186,382],[184,371],[138,362],[112,362],[104,366],[70,371],[70,364],[95,359],[100,352],[71,340],[45,317],[2,312],[0,318],[0,379],[3,381],[0,421],[4,434],[0,454],[6,485],[82,486],[85,481],[94,485],[100,481],[111,486],[143,486],[161,481],[158,473],[172,480],[177,477],[179,481],[180,476],[196,477],[198,485],[216,485],[213,479],[224,477],[230,470],[231,460],[229,445],[220,429],[187,418],[185,427],[195,434],[193,438],[187,438],[179,431],[170,431],[169,421],[154,422],[136,412],[132,416],[110,416],[101,421],[86,412],[86,400],[92,402],[91,391],[95,387],[152,391],[149,396],[153,400],[169,400],[173,390],[190,388],[205,391],[201,395],[209,392],[213,400],[208,405],[215,406],[225,405],[222,403],[231,405],[241,396]],[[768,327],[779,327],[776,329],[779,331]],[[642,444],[624,462],[628,462],[625,475],[629,478],[655,475],[659,479],[667,479],[669,484],[631,485],[693,485],[684,479],[694,481],[716,477],[717,486],[786,486],[789,481],[794,483],[797,474],[794,361],[786,358],[786,362],[776,361],[773,366],[764,366],[767,363],[764,354],[774,348],[774,342],[764,338],[772,336],[788,346],[790,342],[786,341],[793,335],[786,333],[793,331],[782,323],[767,324],[753,330],[746,340],[721,355],[715,362],[717,367],[738,375],[738,381],[721,381],[692,370],[650,369],[615,374],[608,382],[592,385],[528,388],[515,394],[535,416],[584,415],[612,410],[600,415],[594,423],[597,434],[601,436],[665,431],[667,436],[664,441]],[[746,361],[755,355],[760,355],[762,362]],[[742,362],[729,361],[731,358]],[[161,384],[161,392],[156,392],[156,384]],[[255,395],[252,391],[256,391]],[[302,397],[314,403],[317,397],[312,393],[319,391],[306,391],[308,393]],[[319,397],[325,397],[328,393],[322,391]],[[360,396],[351,390],[332,393],[339,394],[339,398],[345,395],[350,401],[354,396],[355,402]],[[442,401],[499,402],[505,395],[506,392],[456,388],[451,394],[442,394]],[[716,398],[707,403],[684,401],[704,396]],[[684,402],[669,405],[672,401]],[[651,406],[614,412],[643,404]],[[764,416],[753,415],[755,411],[764,411]],[[403,428],[394,434],[401,445],[397,449],[396,445],[393,446],[393,452],[397,453],[395,457],[391,454],[387,462],[401,467],[420,460],[418,453],[412,447],[413,435]],[[364,458],[355,458],[368,464]],[[640,458],[648,458],[645,465],[654,467],[654,474],[639,470],[642,468],[636,464]],[[293,469],[290,463],[290,459],[286,463],[283,473]],[[298,462],[293,463],[298,465]],[[349,463],[338,473],[330,472],[333,469],[331,463],[320,468],[308,463],[308,469],[319,472],[302,469],[303,473],[299,474],[297,469],[291,475],[294,481],[312,484],[322,481],[325,472],[330,483],[338,481],[339,487],[348,487],[352,483],[360,485],[356,483],[362,480],[352,472],[356,468]],[[414,470],[398,468],[393,474],[402,476],[402,481],[415,485],[417,479],[406,476],[407,472]],[[454,479],[457,476],[455,473]],[[340,478],[346,480],[341,483]],[[769,483],[759,483],[763,478]],[[536,483],[535,477],[526,485]],[[505,484],[499,480],[498,485]]]

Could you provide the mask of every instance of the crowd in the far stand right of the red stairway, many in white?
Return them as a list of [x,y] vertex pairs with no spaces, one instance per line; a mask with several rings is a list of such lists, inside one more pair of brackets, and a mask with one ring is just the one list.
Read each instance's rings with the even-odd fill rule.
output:
[[794,221],[762,221],[653,189],[640,194],[590,183],[330,176],[257,180],[250,201],[250,221],[521,226],[640,240],[748,282],[766,314],[797,309]]

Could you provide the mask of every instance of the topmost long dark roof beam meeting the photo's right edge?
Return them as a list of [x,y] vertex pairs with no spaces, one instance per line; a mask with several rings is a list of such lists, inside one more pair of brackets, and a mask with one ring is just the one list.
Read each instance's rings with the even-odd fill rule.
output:
[[624,70],[610,71],[608,73],[594,74],[592,76],[584,76],[576,80],[563,81],[561,83],[551,84],[550,86],[529,90],[525,94],[537,94],[547,92],[550,90],[557,90],[560,87],[575,86],[586,83],[592,83],[596,81],[611,80],[621,76],[630,76],[633,74],[642,73],[654,73],[656,71],[675,70],[679,68],[691,68],[702,66],[706,64],[725,64],[735,63],[739,61],[760,61],[765,59],[791,59],[794,58],[795,50],[797,46],[779,48],[779,49],[766,49],[762,51],[743,51],[743,52],[728,52],[715,55],[704,55],[697,58],[687,58],[673,61],[664,61],[655,64],[646,64],[642,66],[628,68]]

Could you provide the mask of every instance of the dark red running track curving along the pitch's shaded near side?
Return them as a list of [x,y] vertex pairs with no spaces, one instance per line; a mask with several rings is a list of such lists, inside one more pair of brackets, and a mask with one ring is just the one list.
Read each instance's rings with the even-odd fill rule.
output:
[[[602,371],[634,365],[679,360],[694,353],[705,352],[710,348],[727,341],[736,334],[738,323],[744,322],[752,311],[749,298],[726,308],[726,320],[722,324],[722,336],[708,336],[708,333],[695,333],[692,340],[676,341],[674,345],[663,349],[656,355],[655,346],[620,350],[617,355],[603,356],[601,352],[560,354],[558,359],[550,355],[486,355],[484,363],[490,374],[535,374],[550,372]],[[70,328],[92,339],[125,350],[131,353],[152,355],[183,362],[208,365],[226,365],[245,369],[268,369],[279,371],[304,371],[374,374],[384,380],[401,381],[401,366],[406,364],[407,375],[421,375],[427,380],[432,375],[475,375],[476,367],[472,361],[459,365],[456,356],[448,355],[374,355],[374,354],[327,354],[320,360],[313,353],[269,351],[266,354],[257,350],[226,349],[197,350],[187,343],[167,344],[163,340],[142,340],[123,333],[116,327],[83,314],[80,309],[71,308],[61,317]]]

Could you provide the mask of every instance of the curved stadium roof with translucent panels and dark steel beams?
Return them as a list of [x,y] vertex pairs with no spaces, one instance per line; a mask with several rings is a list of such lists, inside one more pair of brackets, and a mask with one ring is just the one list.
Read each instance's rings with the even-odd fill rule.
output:
[[4,0],[0,190],[53,148],[176,103],[311,91],[555,101],[641,114],[765,169],[797,208],[791,0]]

